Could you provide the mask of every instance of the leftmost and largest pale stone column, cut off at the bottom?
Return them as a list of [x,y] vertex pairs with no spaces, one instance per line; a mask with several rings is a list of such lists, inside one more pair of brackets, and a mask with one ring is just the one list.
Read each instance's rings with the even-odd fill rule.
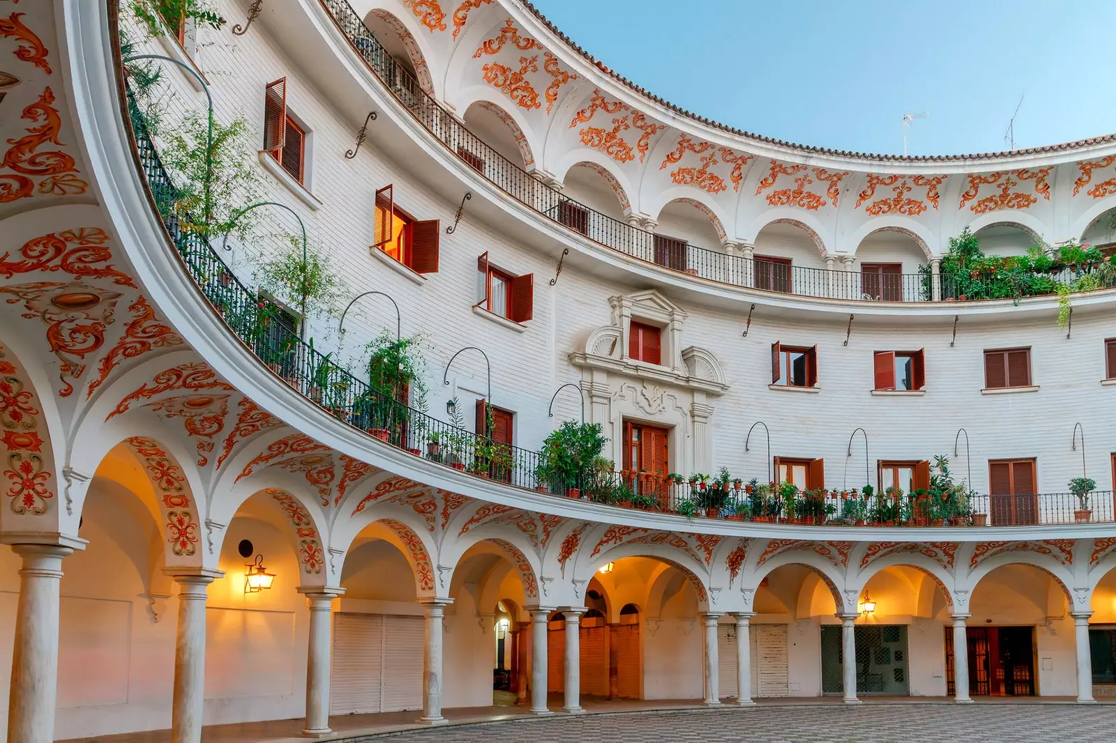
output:
[[55,740],[58,696],[58,604],[62,558],[74,551],[61,544],[12,544],[23,560],[19,571],[16,643],[8,696],[8,740],[50,743]]

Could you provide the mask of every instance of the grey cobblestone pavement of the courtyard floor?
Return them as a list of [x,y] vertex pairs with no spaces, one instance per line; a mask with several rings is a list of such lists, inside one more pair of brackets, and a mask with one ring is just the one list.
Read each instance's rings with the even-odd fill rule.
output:
[[950,704],[566,716],[403,733],[414,743],[1110,743],[1116,706]]

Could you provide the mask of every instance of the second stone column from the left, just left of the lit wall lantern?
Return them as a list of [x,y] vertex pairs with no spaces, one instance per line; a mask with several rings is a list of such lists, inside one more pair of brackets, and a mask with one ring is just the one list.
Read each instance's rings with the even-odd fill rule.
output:
[[205,591],[224,571],[165,568],[163,572],[179,583],[171,743],[200,743],[205,702]]

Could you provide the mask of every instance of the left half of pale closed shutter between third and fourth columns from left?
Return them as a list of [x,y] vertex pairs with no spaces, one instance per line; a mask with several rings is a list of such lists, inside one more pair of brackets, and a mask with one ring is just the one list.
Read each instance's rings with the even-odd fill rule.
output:
[[[329,713],[381,712],[384,617],[335,614]],[[419,667],[422,667],[420,656]]]

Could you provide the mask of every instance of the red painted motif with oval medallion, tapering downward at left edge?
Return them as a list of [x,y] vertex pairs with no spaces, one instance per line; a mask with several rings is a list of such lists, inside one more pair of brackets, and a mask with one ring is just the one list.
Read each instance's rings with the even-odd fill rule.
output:
[[47,342],[59,361],[58,395],[71,395],[71,380],[85,374],[85,357],[105,342],[105,329],[114,321],[121,295],[84,283],[50,281],[2,287],[0,293],[15,295],[9,305],[23,303],[22,317],[46,324]]

